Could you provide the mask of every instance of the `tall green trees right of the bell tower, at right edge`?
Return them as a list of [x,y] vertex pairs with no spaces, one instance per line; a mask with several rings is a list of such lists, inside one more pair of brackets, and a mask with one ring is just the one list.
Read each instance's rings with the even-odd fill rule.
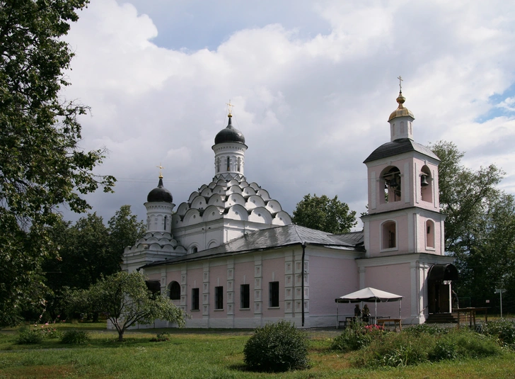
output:
[[[503,172],[493,164],[473,171],[451,142],[429,146],[441,159],[439,196],[446,252],[460,271],[458,294],[474,306],[493,298],[494,288],[515,291],[515,200],[497,188]],[[515,304],[507,302],[507,309]],[[511,308],[509,308],[511,306]]]

